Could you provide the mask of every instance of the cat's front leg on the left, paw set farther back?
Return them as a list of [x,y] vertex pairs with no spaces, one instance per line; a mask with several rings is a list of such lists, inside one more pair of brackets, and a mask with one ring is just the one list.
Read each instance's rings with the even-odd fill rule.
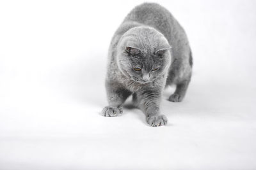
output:
[[131,92],[127,89],[116,85],[115,83],[106,82],[106,90],[108,96],[109,106],[106,106],[102,110],[104,117],[116,117],[123,113],[121,105],[125,102],[127,97],[131,95]]

